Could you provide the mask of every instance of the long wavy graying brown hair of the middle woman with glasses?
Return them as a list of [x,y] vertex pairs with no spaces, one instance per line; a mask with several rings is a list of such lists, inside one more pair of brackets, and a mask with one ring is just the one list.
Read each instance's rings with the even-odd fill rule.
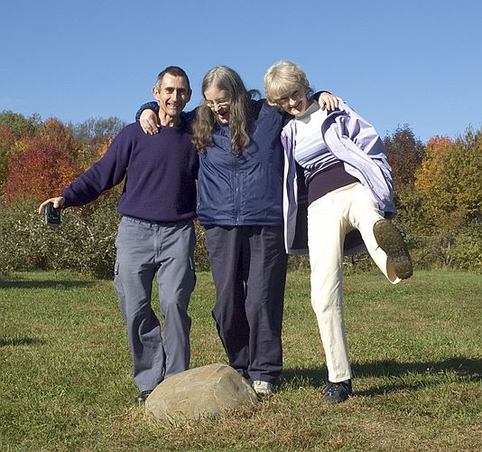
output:
[[[229,93],[229,134],[231,136],[231,153],[239,156],[243,148],[249,144],[249,126],[251,99],[257,91],[246,90],[239,74],[227,66],[216,66],[202,80],[202,95],[206,89],[217,88]],[[196,118],[192,125],[192,144],[199,154],[205,154],[206,148],[212,144],[212,133],[216,125],[216,117],[204,101],[196,110]]]

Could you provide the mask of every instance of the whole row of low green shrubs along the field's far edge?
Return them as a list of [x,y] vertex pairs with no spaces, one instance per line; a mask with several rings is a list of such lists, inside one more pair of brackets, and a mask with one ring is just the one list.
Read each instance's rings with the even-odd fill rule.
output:
[[[97,278],[112,278],[116,259],[116,232],[120,215],[117,193],[104,194],[83,208],[62,211],[59,229],[43,224],[38,202],[15,200],[0,204],[0,273],[13,270],[70,268]],[[415,221],[413,217],[412,220]],[[402,220],[402,221],[399,221]],[[473,221],[467,228],[452,232],[423,233],[405,226],[403,216],[395,224],[405,233],[414,268],[453,268],[482,272],[482,224]],[[196,268],[209,271],[204,230],[195,222]],[[308,256],[290,256],[289,269],[310,271]],[[376,268],[366,253],[344,260],[346,274]]]

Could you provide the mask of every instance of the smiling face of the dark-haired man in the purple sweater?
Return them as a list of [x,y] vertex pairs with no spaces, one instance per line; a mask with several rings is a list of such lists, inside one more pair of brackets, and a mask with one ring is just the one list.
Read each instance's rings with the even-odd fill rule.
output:
[[154,98],[159,102],[159,115],[178,118],[190,101],[190,89],[184,77],[167,73],[161,87],[153,88]]

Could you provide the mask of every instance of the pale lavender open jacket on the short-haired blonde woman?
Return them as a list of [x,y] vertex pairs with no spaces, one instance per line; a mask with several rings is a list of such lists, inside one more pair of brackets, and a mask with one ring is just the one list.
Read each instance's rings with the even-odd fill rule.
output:
[[[369,189],[377,207],[388,216],[394,216],[392,168],[386,161],[385,148],[375,128],[347,104],[340,102],[337,110],[330,112],[321,124],[321,137],[331,153],[345,164],[347,173]],[[304,179],[293,155],[293,119],[283,127],[281,138],[284,147],[284,244],[288,253],[303,254],[308,252],[308,201]],[[346,255],[362,248],[363,243],[359,240],[345,242]]]

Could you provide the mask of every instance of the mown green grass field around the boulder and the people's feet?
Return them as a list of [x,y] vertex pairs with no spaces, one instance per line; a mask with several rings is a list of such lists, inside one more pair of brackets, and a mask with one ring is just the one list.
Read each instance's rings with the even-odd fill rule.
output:
[[[154,423],[137,391],[110,281],[0,277],[0,450],[481,450],[482,278],[416,272],[345,279],[354,396],[327,380],[306,271],[289,274],[284,371],[271,400],[226,419]],[[226,363],[199,273],[191,366]]]

